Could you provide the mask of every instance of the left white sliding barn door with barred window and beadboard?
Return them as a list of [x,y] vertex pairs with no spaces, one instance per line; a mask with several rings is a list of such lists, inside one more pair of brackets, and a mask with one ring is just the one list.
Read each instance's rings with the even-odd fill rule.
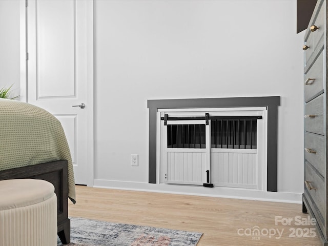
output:
[[205,120],[168,120],[163,128],[167,183],[210,183],[210,124]]

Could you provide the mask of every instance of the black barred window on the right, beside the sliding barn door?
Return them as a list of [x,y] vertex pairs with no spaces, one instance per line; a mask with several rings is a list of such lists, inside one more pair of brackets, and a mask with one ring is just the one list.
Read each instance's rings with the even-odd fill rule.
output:
[[215,119],[211,124],[211,148],[256,149],[256,119]]

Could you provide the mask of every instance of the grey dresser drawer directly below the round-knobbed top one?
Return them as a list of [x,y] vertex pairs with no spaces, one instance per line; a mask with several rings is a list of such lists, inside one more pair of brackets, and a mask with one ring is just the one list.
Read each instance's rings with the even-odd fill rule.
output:
[[304,77],[305,103],[323,91],[323,52],[314,61],[313,66]]

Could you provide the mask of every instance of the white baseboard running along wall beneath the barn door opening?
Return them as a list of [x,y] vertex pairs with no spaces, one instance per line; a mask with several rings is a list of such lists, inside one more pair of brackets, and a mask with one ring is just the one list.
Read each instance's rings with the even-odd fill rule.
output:
[[147,192],[172,193],[172,194],[182,194],[182,195],[236,198],[236,199],[245,199],[245,200],[275,201],[275,202],[288,202],[288,203],[302,202],[301,193],[264,192],[264,191],[250,190],[250,189],[227,188],[227,187],[206,188],[202,186],[167,185],[163,183],[157,184],[157,183],[144,183],[144,182],[104,180],[104,179],[95,179],[93,183],[93,187],[117,189],[117,190],[147,191]]

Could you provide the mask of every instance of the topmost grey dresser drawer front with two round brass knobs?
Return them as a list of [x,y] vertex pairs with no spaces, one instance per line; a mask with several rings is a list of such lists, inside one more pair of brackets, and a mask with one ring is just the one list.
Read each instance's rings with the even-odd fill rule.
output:
[[316,16],[313,24],[311,25],[311,28],[314,28],[315,31],[310,31],[310,35],[304,40],[305,45],[308,46],[308,49],[305,50],[305,64],[308,64],[309,58],[320,46],[319,43],[322,42],[320,38],[324,34],[324,20],[325,8],[324,6],[321,6],[318,15]]

